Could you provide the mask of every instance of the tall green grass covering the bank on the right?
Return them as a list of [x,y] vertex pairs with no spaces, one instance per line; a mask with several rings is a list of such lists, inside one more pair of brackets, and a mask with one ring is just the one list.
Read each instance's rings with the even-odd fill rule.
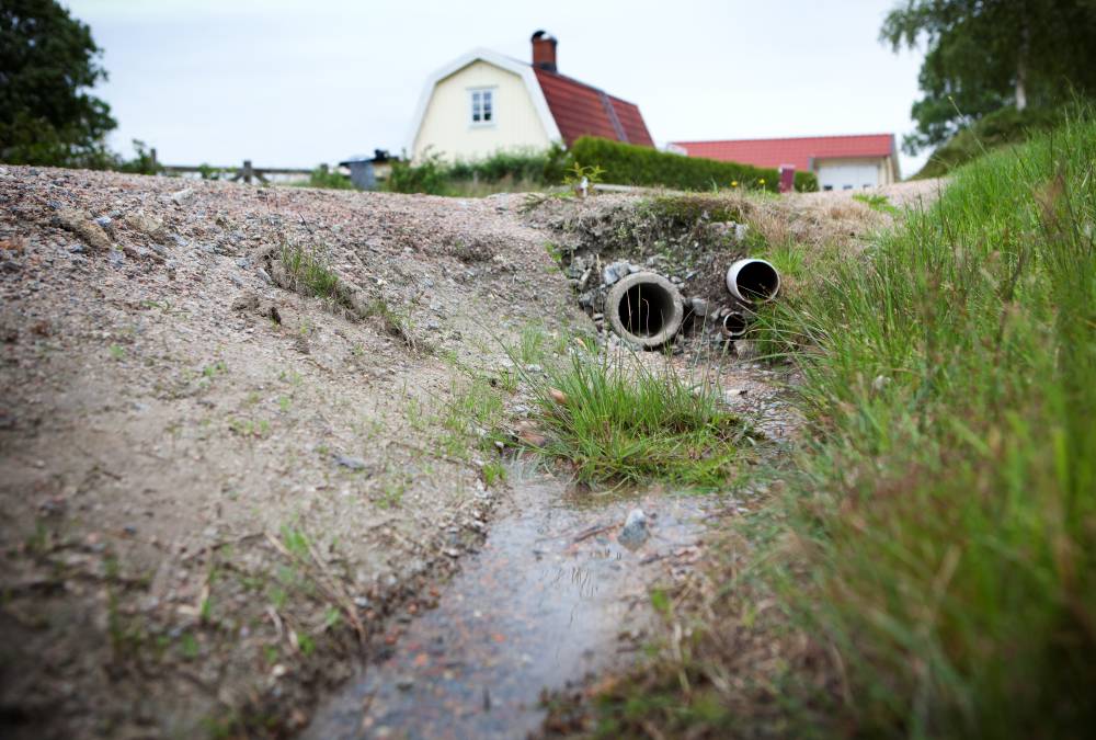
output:
[[1096,727],[1094,225],[1085,115],[958,171],[777,320],[812,345],[787,597],[840,657],[835,731]]

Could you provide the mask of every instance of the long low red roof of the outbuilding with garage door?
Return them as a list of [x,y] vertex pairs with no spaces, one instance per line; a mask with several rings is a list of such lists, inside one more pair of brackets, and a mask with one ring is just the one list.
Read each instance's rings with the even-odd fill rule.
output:
[[894,151],[893,134],[808,136],[791,139],[738,139],[730,141],[674,141],[689,157],[718,159],[754,167],[795,164],[811,169],[812,159],[886,157]]

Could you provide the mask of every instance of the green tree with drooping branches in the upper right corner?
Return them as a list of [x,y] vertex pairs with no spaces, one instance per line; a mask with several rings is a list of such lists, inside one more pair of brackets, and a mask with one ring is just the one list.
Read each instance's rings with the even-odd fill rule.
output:
[[880,37],[895,50],[926,44],[911,153],[949,139],[964,115],[1096,92],[1096,0],[904,0]]

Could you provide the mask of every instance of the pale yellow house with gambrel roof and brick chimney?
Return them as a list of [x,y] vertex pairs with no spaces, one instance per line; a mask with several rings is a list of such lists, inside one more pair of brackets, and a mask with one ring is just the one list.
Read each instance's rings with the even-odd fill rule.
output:
[[533,34],[533,62],[475,49],[426,79],[412,118],[408,151],[448,160],[481,159],[500,149],[544,149],[580,136],[654,146],[639,109],[560,75],[557,41]]

